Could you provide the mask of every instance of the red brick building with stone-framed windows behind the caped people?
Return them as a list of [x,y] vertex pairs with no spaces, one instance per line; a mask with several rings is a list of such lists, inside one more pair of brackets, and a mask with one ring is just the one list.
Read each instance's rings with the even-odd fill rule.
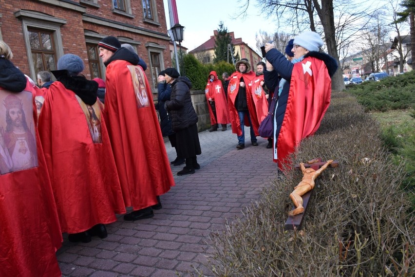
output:
[[0,0],[0,39],[33,80],[68,53],[84,60],[88,79],[105,79],[97,44],[107,36],[136,49],[156,87],[158,72],[171,65],[163,0]]

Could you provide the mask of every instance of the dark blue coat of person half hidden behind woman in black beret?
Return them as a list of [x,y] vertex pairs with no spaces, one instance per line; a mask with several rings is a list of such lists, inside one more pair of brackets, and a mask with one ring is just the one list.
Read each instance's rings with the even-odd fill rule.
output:
[[171,117],[167,115],[167,111],[164,109],[164,103],[170,100],[171,86],[166,82],[160,82],[157,85],[157,91],[156,110],[158,110],[158,114],[160,115],[161,133],[165,137],[174,133],[171,126]]

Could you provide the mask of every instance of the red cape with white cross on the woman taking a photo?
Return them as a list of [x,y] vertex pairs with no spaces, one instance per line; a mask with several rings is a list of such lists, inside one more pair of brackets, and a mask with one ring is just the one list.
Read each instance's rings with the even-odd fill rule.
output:
[[287,108],[277,140],[280,169],[288,164],[285,159],[300,141],[319,129],[330,105],[330,96],[331,78],[322,60],[307,57],[294,64]]

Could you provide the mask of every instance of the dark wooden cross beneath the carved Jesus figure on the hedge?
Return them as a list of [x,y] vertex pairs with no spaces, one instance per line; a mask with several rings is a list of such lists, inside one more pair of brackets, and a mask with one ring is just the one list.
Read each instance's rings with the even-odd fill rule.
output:
[[[304,164],[305,168],[313,168],[314,170],[318,170],[321,166],[323,166],[326,162],[322,162],[321,158],[313,159],[311,161],[308,161],[307,164]],[[337,167],[339,166],[339,161],[335,160],[333,161],[328,167]],[[300,165],[294,166],[295,170],[301,170]],[[305,213],[307,211],[308,201],[310,200],[311,194],[313,193],[313,190],[310,190],[309,192],[305,193],[302,196],[302,206],[304,207],[304,212],[295,216],[288,216],[287,221],[285,222],[285,230],[300,230],[302,227],[302,222],[304,220]],[[293,205],[294,206],[294,205]],[[294,206],[295,208],[295,206]]]

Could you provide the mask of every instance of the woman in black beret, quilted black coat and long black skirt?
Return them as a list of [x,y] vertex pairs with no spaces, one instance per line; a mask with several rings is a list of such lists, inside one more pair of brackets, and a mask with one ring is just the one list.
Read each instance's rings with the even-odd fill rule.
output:
[[197,155],[202,153],[197,132],[197,114],[190,96],[191,83],[188,77],[180,76],[174,68],[165,70],[166,82],[171,85],[170,101],[164,107],[171,114],[173,131],[176,132],[177,153],[186,159],[186,166],[177,175],[195,173],[199,169]]

